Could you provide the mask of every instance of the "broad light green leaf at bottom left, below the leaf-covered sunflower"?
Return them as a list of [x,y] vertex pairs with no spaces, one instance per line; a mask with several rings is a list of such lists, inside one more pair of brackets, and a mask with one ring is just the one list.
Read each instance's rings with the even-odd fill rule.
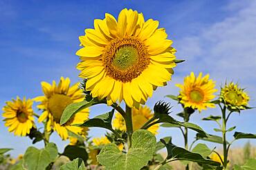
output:
[[57,158],[57,147],[54,143],[48,143],[43,149],[28,147],[24,154],[24,164],[28,169],[44,170]]

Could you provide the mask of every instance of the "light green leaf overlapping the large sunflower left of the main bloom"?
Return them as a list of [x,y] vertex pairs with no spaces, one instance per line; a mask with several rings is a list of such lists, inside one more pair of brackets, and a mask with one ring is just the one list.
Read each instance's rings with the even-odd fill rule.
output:
[[97,100],[96,98],[93,98],[93,100],[91,101],[82,101],[80,103],[71,103],[70,105],[68,105],[62,114],[62,118],[60,118],[60,124],[63,125],[64,123],[66,123],[74,114],[76,114],[78,111],[82,110],[82,109],[86,109],[88,107],[91,107],[93,105],[97,105],[100,103],[105,103],[104,100]]

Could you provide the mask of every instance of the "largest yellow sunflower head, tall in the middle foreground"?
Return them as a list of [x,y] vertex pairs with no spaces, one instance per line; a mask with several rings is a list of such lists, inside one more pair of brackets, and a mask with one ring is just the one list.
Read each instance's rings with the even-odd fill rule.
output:
[[93,98],[107,98],[108,105],[117,100],[129,107],[145,104],[156,87],[170,81],[176,66],[165,29],[131,9],[122,10],[118,20],[111,14],[95,19],[94,29],[79,39],[80,77],[88,79],[86,90]]

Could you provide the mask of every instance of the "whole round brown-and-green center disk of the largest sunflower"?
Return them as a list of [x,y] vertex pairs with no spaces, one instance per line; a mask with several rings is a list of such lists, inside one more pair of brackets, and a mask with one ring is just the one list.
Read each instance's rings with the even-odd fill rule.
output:
[[145,44],[134,36],[113,39],[102,54],[107,76],[123,83],[138,77],[150,63]]

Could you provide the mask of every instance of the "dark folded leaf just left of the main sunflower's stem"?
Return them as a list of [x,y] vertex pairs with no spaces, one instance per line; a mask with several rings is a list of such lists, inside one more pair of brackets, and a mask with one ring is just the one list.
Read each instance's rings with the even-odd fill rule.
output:
[[99,116],[96,116],[95,118],[91,118],[89,120],[86,120],[85,123],[82,125],[78,125],[80,127],[102,127],[105,129],[109,129],[113,131],[111,120],[113,118],[113,112],[115,110],[112,109],[106,114],[101,114]]

